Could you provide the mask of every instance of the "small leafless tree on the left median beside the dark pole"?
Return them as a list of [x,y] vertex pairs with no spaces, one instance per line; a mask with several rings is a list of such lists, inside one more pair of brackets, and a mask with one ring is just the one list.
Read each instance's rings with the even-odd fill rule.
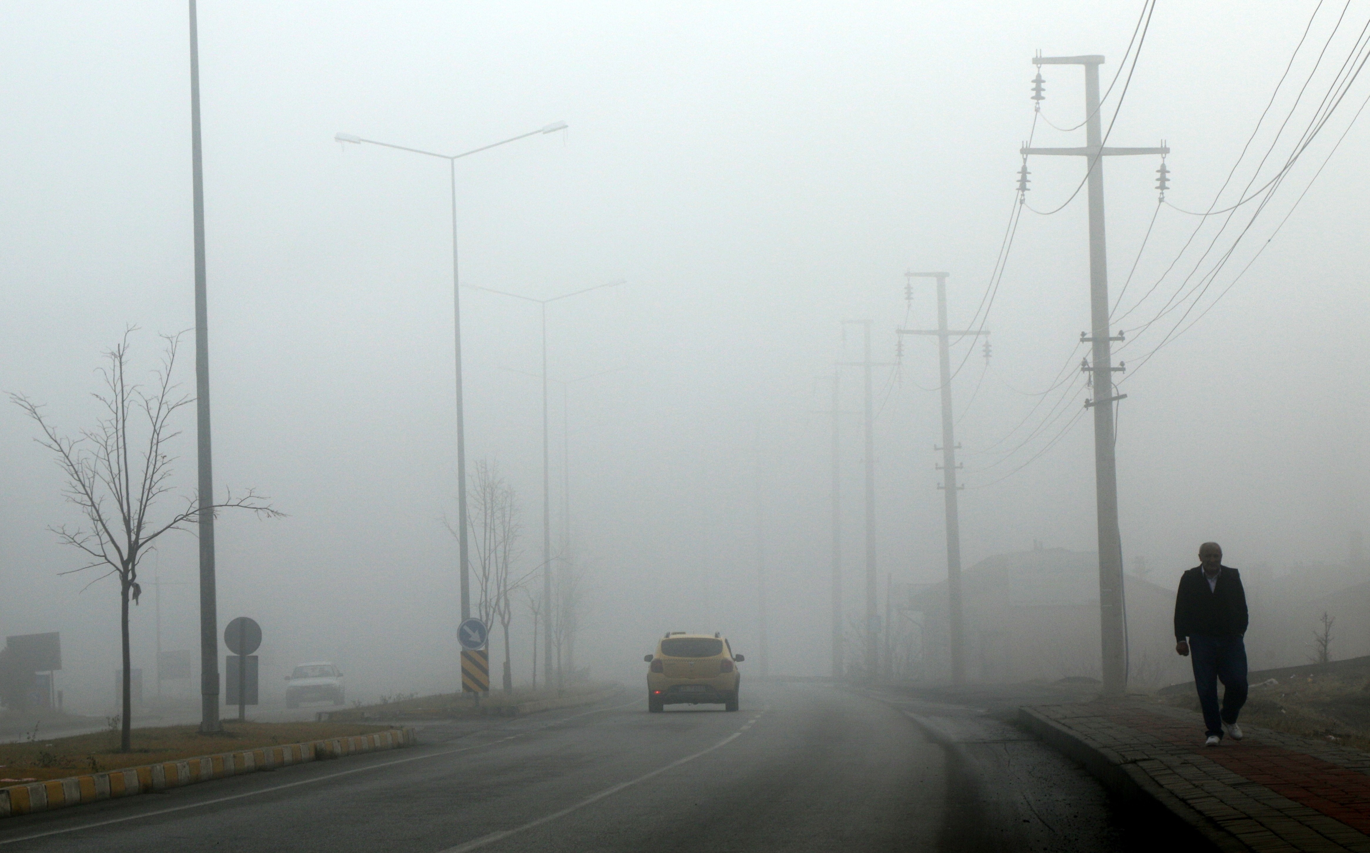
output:
[[[119,579],[123,654],[121,752],[132,749],[129,601],[137,604],[142,593],[138,561],[162,534],[189,530],[201,505],[199,496],[184,497],[185,505],[179,511],[153,520],[153,508],[159,501],[177,492],[171,479],[175,457],[169,450],[181,433],[173,426],[173,416],[193,398],[182,394],[173,382],[179,335],[162,335],[166,349],[162,364],[152,372],[151,390],[129,377],[129,338],[134,331],[137,329],[132,326],[126,329],[119,344],[104,353],[105,366],[97,371],[103,389],[92,394],[100,401],[103,415],[95,427],[81,430],[79,437],[59,434],[41,405],[23,394],[10,394],[10,400],[38,424],[41,435],[34,441],[56,456],[66,478],[63,494],[85,516],[84,523],[75,527],[49,527],[60,542],[82,552],[86,559],[85,565],[62,574],[103,568],[108,571],[90,585],[111,575]],[[262,518],[284,515],[266,501],[266,497],[248,490],[240,497],[230,493],[222,504],[211,504],[210,508],[251,509]]]

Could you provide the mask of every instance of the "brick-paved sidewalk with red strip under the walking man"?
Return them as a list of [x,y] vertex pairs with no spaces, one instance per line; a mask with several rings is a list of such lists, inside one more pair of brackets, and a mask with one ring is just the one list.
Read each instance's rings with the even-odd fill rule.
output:
[[1206,748],[1197,713],[1137,700],[1023,706],[1021,722],[1221,850],[1370,853],[1367,753],[1245,726]]

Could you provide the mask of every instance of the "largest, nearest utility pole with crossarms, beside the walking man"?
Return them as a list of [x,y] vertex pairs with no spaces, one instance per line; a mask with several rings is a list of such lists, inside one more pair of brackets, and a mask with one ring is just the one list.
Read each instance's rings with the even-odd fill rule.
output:
[[[1089,182],[1089,314],[1091,334],[1081,333],[1081,342],[1093,346],[1093,400],[1085,408],[1095,409],[1095,498],[1099,524],[1099,627],[1101,634],[1103,693],[1122,696],[1128,686],[1126,627],[1123,613],[1122,534],[1118,529],[1118,467],[1114,459],[1114,404],[1126,394],[1114,394],[1112,374],[1122,367],[1112,366],[1112,341],[1123,337],[1110,334],[1108,327],[1108,266],[1104,244],[1104,173],[1103,157],[1119,155],[1167,155],[1170,148],[1104,148],[1099,115],[1099,66],[1103,56],[1037,56],[1036,100],[1041,92],[1041,66],[1084,66],[1086,144],[1084,148],[1028,148],[1022,147],[1023,181],[1026,192],[1028,156],[1052,155],[1088,157]],[[1022,196],[1019,194],[1019,201]]]

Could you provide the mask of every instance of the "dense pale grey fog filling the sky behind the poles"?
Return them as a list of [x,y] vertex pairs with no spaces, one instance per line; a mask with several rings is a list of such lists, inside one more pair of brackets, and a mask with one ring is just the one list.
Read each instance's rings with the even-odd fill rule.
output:
[[[1370,582],[1356,545],[1370,475],[1370,377],[1356,367],[1370,136],[1352,125],[1365,81],[1248,230],[1254,204],[1185,249],[1197,219],[1177,208],[1228,207],[1284,166],[1355,36],[1319,19],[1310,44],[1330,37],[1334,59],[1314,70],[1317,53],[1300,52],[1258,129],[1310,11],[1164,5],[1140,59],[1119,66],[1133,4],[206,0],[215,483],[286,513],[219,516],[221,631],[240,615],[262,624],[275,701],[281,678],[312,660],[336,661],[355,700],[456,686],[448,167],[334,134],[459,153],[559,120],[569,129],[460,159],[455,174],[467,457],[497,463],[516,493],[519,574],[543,564],[543,315],[475,288],[545,300],[621,282],[545,308],[551,538],[558,571],[585,593],[577,667],[636,683],[655,639],[688,630],[722,631],[756,671],[763,564],[770,674],[830,674],[834,371],[859,663],[863,375],[851,363],[864,355],[862,327],[844,320],[870,320],[880,609],[888,578],[897,675],[938,678],[910,627],[922,619],[910,600],[947,576],[937,346],[895,334],[936,327],[937,301],[919,278],[906,300],[910,270],[948,271],[951,326],[992,333],[988,361],[981,341],[952,344],[967,578],[982,560],[1011,571],[1004,555],[1064,549],[1056,579],[1096,613],[1092,392],[1077,368],[1085,193],[1052,215],[1021,211],[1004,249],[1019,147],[1084,145],[1082,129],[1052,126],[1085,118],[1080,67],[1043,67],[1034,122],[1041,51],[1106,55],[1106,86],[1123,67],[1104,104],[1108,144],[1171,149],[1173,207],[1158,207],[1160,157],[1104,164],[1110,288],[1128,312],[1115,322],[1128,337],[1115,349],[1128,363],[1123,559],[1129,607],[1151,602],[1130,624],[1133,649],[1151,649],[1134,653],[1134,679],[1186,678],[1186,661],[1162,656],[1173,639],[1159,596],[1210,539],[1247,572],[1252,668],[1306,661],[1317,616],[1363,601]],[[195,390],[185,8],[8,4],[0,33],[0,390],[77,435],[99,416],[101,353],[127,326],[138,375],[156,367],[159,334],[190,330],[175,378]],[[1028,168],[1026,203],[1043,214],[1085,175],[1081,157]],[[1229,251],[1211,285],[1189,290]],[[1163,314],[1171,297],[1180,308]],[[193,405],[174,423],[163,515],[196,482]],[[21,408],[0,408],[0,635],[60,631],[68,709],[111,713],[118,587],[99,570],[64,574],[81,555],[49,527],[79,518],[36,435]],[[193,533],[173,533],[140,568],[145,696],[159,608],[162,648],[197,659],[196,553]],[[1370,653],[1370,624],[1355,619],[1338,622],[1333,656]],[[1097,620],[1069,626],[1041,667],[975,664],[973,678],[1099,676]],[[526,683],[522,600],[511,631]],[[162,690],[189,697],[197,682]]]

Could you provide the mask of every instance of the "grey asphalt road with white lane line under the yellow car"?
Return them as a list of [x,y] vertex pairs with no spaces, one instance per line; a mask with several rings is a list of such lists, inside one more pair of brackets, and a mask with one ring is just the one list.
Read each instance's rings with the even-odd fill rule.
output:
[[0,852],[1141,850],[1164,841],[1001,722],[1001,696],[748,687],[737,713],[647,713],[634,690],[590,709],[426,726],[411,749],[8,819]]

